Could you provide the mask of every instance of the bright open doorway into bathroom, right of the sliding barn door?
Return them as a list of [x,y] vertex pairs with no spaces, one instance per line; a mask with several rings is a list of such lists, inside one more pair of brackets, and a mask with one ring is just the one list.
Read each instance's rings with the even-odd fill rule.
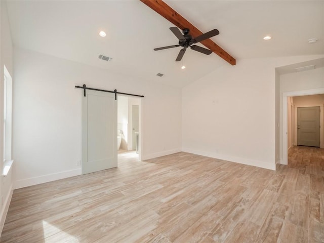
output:
[[118,95],[117,152],[118,161],[141,159],[141,98]]

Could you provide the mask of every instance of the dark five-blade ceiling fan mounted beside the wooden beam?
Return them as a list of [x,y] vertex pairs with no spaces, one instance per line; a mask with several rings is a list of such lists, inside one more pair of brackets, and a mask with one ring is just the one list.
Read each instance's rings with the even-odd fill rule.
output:
[[217,29],[213,29],[211,31],[206,32],[205,34],[201,34],[201,35],[193,38],[189,34],[189,29],[187,29],[187,28],[182,30],[183,34],[180,32],[180,30],[177,27],[170,27],[170,30],[179,39],[179,45],[154,48],[154,51],[159,51],[159,50],[164,50],[164,49],[169,49],[169,48],[174,48],[174,47],[183,47],[177,56],[176,62],[181,61],[181,59],[188,47],[190,47],[191,50],[194,50],[196,52],[204,53],[206,55],[211,54],[213,51],[203,48],[203,47],[192,45],[192,44],[196,44],[198,42],[204,41],[205,39],[209,39],[209,38],[219,34],[219,31]]

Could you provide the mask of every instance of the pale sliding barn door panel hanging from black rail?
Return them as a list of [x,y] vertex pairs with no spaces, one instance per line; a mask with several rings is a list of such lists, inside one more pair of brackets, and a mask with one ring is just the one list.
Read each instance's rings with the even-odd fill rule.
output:
[[83,97],[83,174],[117,167],[117,101],[113,93]]

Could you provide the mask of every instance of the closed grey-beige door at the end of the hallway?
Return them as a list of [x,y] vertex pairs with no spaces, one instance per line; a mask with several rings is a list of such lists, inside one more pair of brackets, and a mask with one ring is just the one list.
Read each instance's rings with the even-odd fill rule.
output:
[[320,108],[297,108],[297,145],[319,147]]

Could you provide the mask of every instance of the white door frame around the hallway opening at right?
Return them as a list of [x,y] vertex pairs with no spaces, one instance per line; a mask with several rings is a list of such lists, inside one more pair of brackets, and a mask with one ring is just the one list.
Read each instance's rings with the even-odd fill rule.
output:
[[282,165],[288,165],[288,97],[304,96],[304,95],[319,95],[324,94],[324,88],[312,90],[299,90],[282,93],[282,130],[281,130],[281,147],[282,147]]

